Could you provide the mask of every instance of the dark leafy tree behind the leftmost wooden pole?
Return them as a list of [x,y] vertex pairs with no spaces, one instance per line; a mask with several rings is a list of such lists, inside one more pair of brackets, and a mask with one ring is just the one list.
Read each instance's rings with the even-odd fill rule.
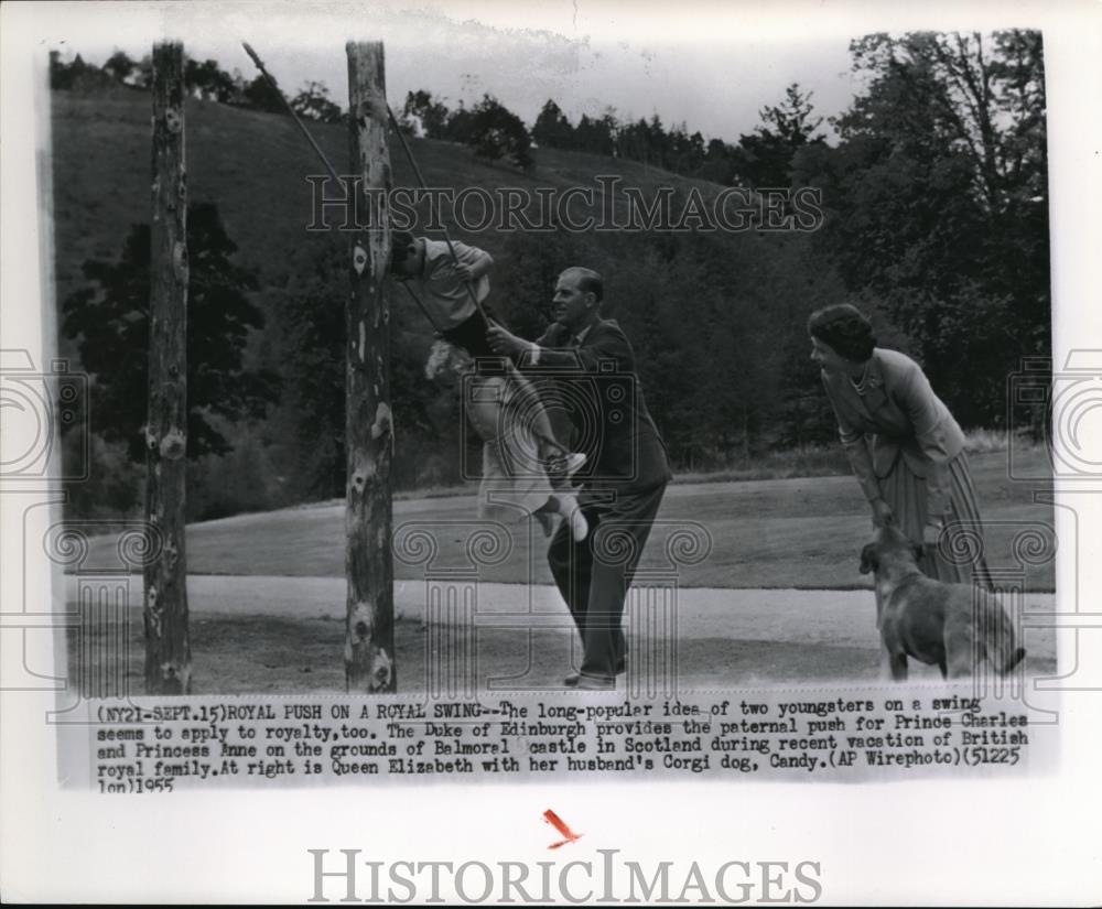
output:
[[[277,377],[248,368],[251,331],[263,327],[247,293],[252,272],[235,264],[217,206],[188,206],[187,455],[225,454],[230,445],[219,421],[259,419],[278,398]],[[88,260],[85,277],[97,286],[63,304],[62,332],[77,340],[91,374],[93,429],[109,442],[125,442],[130,457],[144,459],[141,426],[147,418],[149,377],[150,229],[134,225],[118,262]]]

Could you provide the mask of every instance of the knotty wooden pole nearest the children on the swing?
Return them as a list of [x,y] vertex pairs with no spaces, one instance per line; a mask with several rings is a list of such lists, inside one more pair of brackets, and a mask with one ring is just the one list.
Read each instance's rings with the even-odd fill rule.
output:
[[395,445],[390,309],[382,293],[390,258],[387,94],[382,44],[349,42],[346,51],[352,173],[360,175],[363,182],[358,187],[360,205],[354,209],[360,225],[349,251],[352,293],[347,309],[345,679],[349,691],[391,692],[398,689],[398,678],[390,550]]

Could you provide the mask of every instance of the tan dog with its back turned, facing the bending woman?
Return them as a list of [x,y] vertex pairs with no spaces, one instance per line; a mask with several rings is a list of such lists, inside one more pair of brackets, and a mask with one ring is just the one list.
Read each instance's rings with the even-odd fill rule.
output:
[[876,625],[892,678],[907,678],[907,658],[938,665],[942,678],[966,678],[990,660],[1006,674],[1025,657],[1003,605],[969,584],[944,584],[918,567],[915,545],[883,527],[861,551],[861,573],[876,573]]

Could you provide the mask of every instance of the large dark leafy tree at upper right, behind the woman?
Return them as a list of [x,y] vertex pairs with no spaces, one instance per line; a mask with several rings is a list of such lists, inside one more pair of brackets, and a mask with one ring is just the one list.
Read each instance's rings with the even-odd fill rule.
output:
[[1040,35],[877,34],[851,52],[867,87],[842,142],[793,162],[823,187],[822,240],[958,419],[1000,424],[1007,375],[1050,345]]

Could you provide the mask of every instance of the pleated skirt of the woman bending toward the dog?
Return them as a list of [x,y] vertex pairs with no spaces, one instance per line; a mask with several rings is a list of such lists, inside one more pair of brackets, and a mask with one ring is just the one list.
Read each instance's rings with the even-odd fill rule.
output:
[[[980,586],[993,589],[984,553],[979,498],[964,452],[950,461],[948,468],[949,513],[937,550],[927,551],[919,560],[919,567],[928,577],[949,584],[971,584],[974,577]],[[921,543],[927,518],[926,479],[916,476],[900,455],[892,473],[880,479],[880,491],[900,530],[915,543]]]

